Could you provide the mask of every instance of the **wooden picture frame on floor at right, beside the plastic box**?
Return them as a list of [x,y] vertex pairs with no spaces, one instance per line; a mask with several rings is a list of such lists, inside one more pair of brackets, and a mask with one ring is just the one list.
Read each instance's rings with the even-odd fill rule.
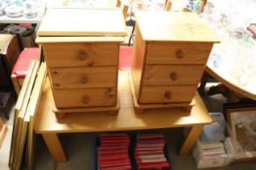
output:
[[224,105],[227,122],[243,153],[236,161],[256,159],[256,103]]

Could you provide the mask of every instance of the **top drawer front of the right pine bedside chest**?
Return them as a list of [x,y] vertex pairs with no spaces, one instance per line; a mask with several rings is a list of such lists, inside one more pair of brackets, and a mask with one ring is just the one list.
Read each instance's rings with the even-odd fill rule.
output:
[[205,64],[212,43],[148,43],[148,64]]

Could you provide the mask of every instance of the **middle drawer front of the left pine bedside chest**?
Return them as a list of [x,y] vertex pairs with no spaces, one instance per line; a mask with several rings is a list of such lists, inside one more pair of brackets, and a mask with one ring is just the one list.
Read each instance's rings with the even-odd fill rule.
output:
[[50,68],[54,88],[116,87],[116,67]]

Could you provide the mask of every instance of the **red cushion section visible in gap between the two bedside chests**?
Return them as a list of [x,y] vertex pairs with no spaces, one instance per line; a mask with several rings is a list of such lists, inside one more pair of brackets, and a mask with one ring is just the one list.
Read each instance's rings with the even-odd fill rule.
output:
[[131,70],[133,47],[121,46],[119,51],[119,69]]

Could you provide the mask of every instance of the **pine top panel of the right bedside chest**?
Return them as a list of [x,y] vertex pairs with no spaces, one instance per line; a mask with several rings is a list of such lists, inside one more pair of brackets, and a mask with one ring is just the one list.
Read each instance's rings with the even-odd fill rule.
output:
[[220,41],[219,36],[193,13],[137,11],[136,18],[145,41]]

